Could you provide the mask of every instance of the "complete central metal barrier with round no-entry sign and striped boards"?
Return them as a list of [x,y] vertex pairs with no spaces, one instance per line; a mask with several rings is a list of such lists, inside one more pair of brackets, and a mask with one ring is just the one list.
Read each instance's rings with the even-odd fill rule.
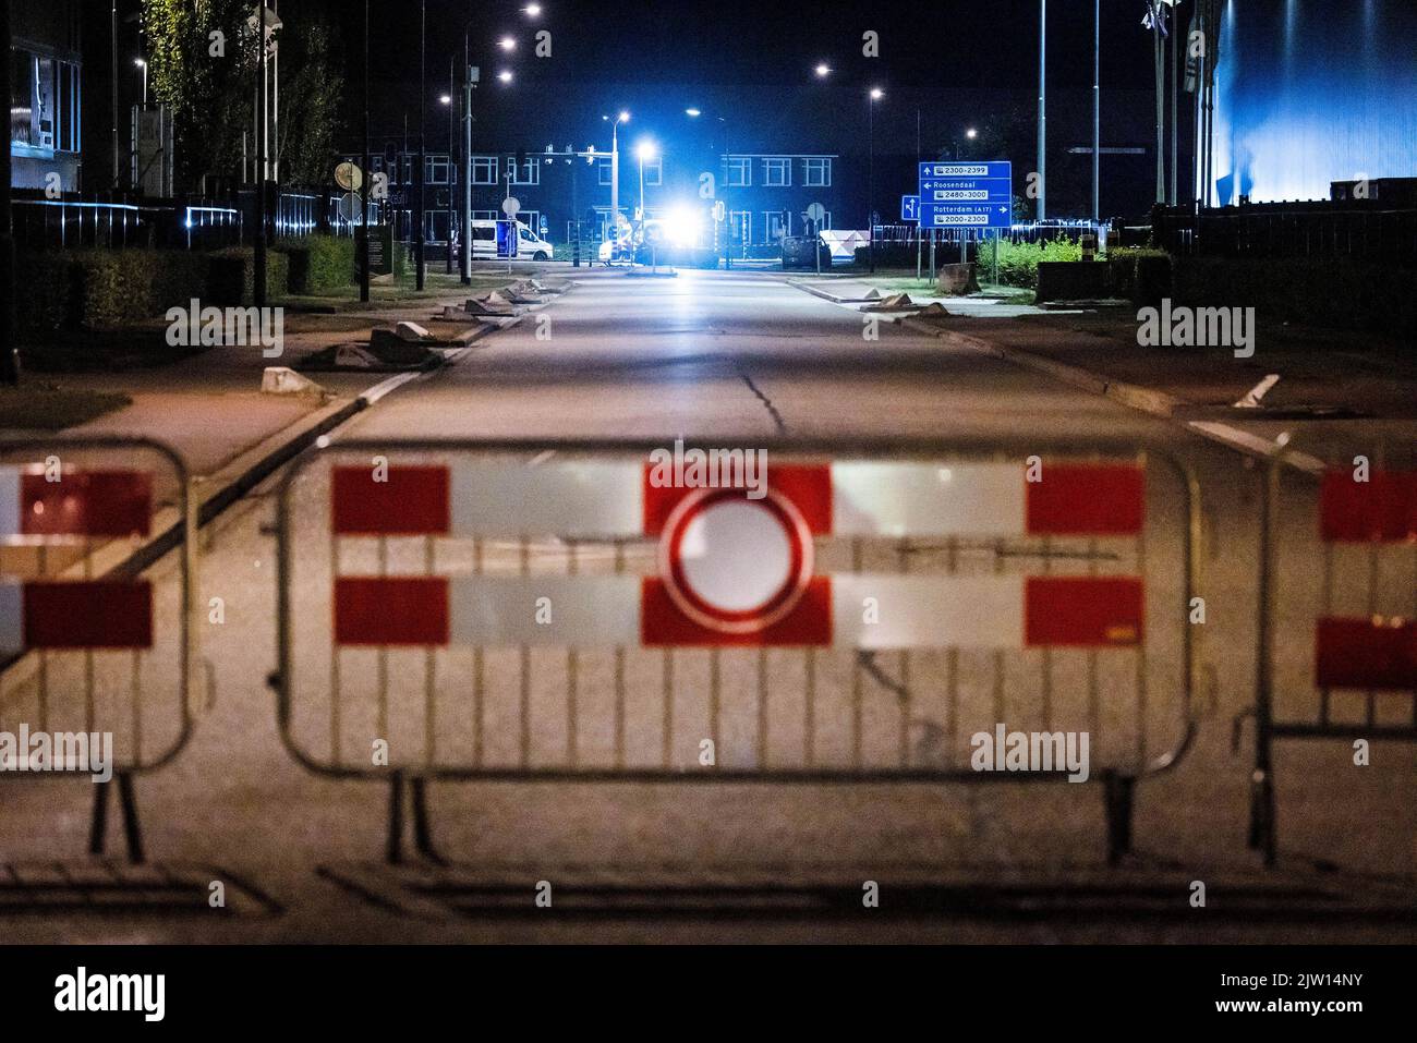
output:
[[666,452],[340,442],[292,465],[281,737],[391,784],[391,860],[405,784],[432,853],[428,779],[1067,778],[979,769],[981,734],[1005,767],[1000,730],[1087,741],[1128,850],[1135,782],[1193,731],[1189,470],[1118,445],[813,444],[771,449],[754,499],[741,469],[657,482]]

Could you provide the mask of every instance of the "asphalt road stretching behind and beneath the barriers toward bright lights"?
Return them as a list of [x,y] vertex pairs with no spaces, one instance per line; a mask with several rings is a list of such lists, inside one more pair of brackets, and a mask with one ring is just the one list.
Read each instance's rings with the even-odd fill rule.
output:
[[[1410,915],[1382,913],[1396,903],[1410,914],[1413,906],[1411,745],[1376,743],[1372,764],[1362,768],[1352,764],[1342,740],[1280,745],[1280,867],[1261,870],[1246,847],[1253,727],[1241,721],[1240,743],[1231,747],[1236,720],[1253,706],[1255,684],[1260,480],[1246,458],[1182,427],[996,359],[949,350],[886,319],[879,339],[863,337],[859,313],[772,274],[574,276],[572,292],[480,342],[451,368],[400,388],[341,428],[336,444],[599,436],[669,446],[684,436],[788,458],[795,439],[1036,442],[1044,455],[1058,442],[1107,439],[1146,444],[1195,472],[1203,506],[1199,590],[1207,609],[1192,635],[1200,641],[1190,710],[1197,728],[1173,768],[1141,784],[1135,856],[1128,864],[1114,872],[1102,862],[1102,799],[1094,785],[482,781],[431,787],[436,845],[455,867],[431,874],[380,870],[387,787],[310,774],[292,760],[276,730],[266,686],[276,662],[275,482],[269,482],[204,533],[200,604],[220,597],[225,607],[225,621],[207,624],[203,632],[210,692],[203,693],[191,743],[137,785],[156,863],[200,866],[198,877],[217,866],[213,879],[249,881],[282,911],[167,917],[75,911],[6,915],[0,928],[30,940],[1413,938]],[[1087,658],[1076,652],[1057,653],[1056,679],[1044,686],[1036,652],[1002,669],[979,658],[951,665],[944,653],[925,652],[907,663],[887,653],[881,676],[864,680],[850,660],[828,655],[805,667],[802,653],[760,659],[757,652],[734,652],[716,660],[686,652],[674,653],[666,680],[663,653],[632,650],[622,684],[628,703],[619,741],[626,760],[691,774],[697,738],[708,730],[718,740],[721,762],[751,765],[762,755],[757,727],[767,723],[775,741],[768,755],[779,767],[809,757],[839,768],[898,765],[900,757],[914,767],[958,764],[966,757],[968,733],[993,720],[999,707],[1010,727],[1027,728],[1043,720],[1039,707],[1047,699],[1054,700],[1056,721],[1100,714],[1091,727],[1117,737],[1097,748],[1100,764],[1156,757],[1178,740],[1187,716],[1179,673],[1186,625],[1173,611],[1180,604],[1185,516],[1179,486],[1163,470],[1156,475],[1145,548],[1129,546],[1098,557],[1095,544],[1061,541],[1051,547],[1061,554],[1054,565],[1036,553],[1000,554],[990,544],[965,547],[959,564],[965,571],[1077,571],[1093,567],[1091,554],[1104,574],[1144,568],[1153,621],[1142,666],[1145,704],[1136,701],[1135,662],[1118,670],[1105,659],[1110,652],[1101,653],[1098,701],[1090,706]],[[316,466],[292,492],[298,577],[292,741],[306,754],[329,757],[332,551],[322,480]],[[1312,503],[1294,496],[1285,504],[1291,513],[1281,529],[1305,531]],[[421,541],[415,543],[391,541],[394,571],[421,567]],[[485,568],[523,567],[516,543],[482,550]],[[621,567],[648,568],[642,550],[628,548]],[[852,561],[850,548],[837,548],[828,554],[845,557],[825,560],[877,571],[922,567],[904,564],[898,551],[867,547],[863,561]],[[1073,551],[1076,558],[1068,558]],[[366,546],[347,553],[343,568],[354,567],[360,556],[367,564],[374,551]],[[445,568],[470,567],[459,557],[466,547],[438,554]],[[567,571],[570,557],[564,547],[533,546],[524,567]],[[1410,557],[1383,561],[1384,598],[1410,597],[1417,587]],[[575,567],[609,571],[616,563],[599,548],[587,550]],[[162,582],[173,582],[173,570],[171,561],[159,567]],[[1292,570],[1312,573],[1298,557]],[[1287,679],[1302,673],[1295,663],[1311,648],[1312,616],[1304,618],[1305,608],[1308,602],[1297,602],[1285,614]],[[357,760],[354,751],[384,724],[371,709],[377,696],[371,677],[380,669],[373,655],[343,653],[340,679],[350,701],[333,734],[346,762]],[[445,761],[468,764],[482,755],[485,764],[514,768],[520,741],[531,764],[555,768],[567,762],[574,733],[578,764],[612,764],[612,653],[587,653],[574,663],[564,650],[519,655],[489,652],[482,663],[478,699],[485,716],[476,727],[483,744],[475,750],[468,738],[472,726],[458,716],[468,713],[476,670],[470,653],[438,653],[432,682],[424,653],[391,653],[387,728],[395,761],[405,751],[412,751],[410,761],[422,757],[421,741],[432,731]],[[520,672],[529,667],[521,689]],[[802,723],[808,669],[816,670],[819,699],[812,724]],[[949,672],[962,679],[954,703],[941,697]],[[575,701],[568,704],[571,673],[578,679]],[[903,701],[890,682],[915,694]],[[713,701],[706,709],[710,687]],[[1000,687],[1003,701],[993,701]],[[436,704],[436,717],[427,716],[428,700]],[[526,716],[519,718],[523,706]],[[1312,693],[1287,690],[1285,711],[1305,714],[1314,706]],[[1410,697],[1384,701],[1379,711],[1382,720],[1390,714],[1401,720]],[[925,740],[941,733],[944,745],[930,747]],[[33,864],[82,850],[86,785],[7,785],[3,799],[0,862]],[[619,898],[597,890],[606,880],[621,886]],[[864,880],[883,884],[883,910],[894,911],[873,915],[859,908],[852,896],[860,894]],[[1210,881],[1214,894],[1224,896],[1209,913],[1187,903],[1196,880]],[[565,911],[557,913],[554,900],[551,910],[534,907],[538,881],[568,896],[560,904]],[[998,908],[988,896],[979,898],[981,886],[988,891],[1000,881],[1027,884],[1017,894],[1036,884],[1051,897],[1015,894]],[[925,890],[913,890],[917,886]],[[649,897],[616,910],[614,901],[628,901],[626,887]],[[701,906],[666,914],[656,904],[666,887],[690,889],[689,897]],[[693,889],[727,889],[734,897],[716,906],[721,894],[704,897]],[[1379,911],[1369,915],[1360,907]]]

